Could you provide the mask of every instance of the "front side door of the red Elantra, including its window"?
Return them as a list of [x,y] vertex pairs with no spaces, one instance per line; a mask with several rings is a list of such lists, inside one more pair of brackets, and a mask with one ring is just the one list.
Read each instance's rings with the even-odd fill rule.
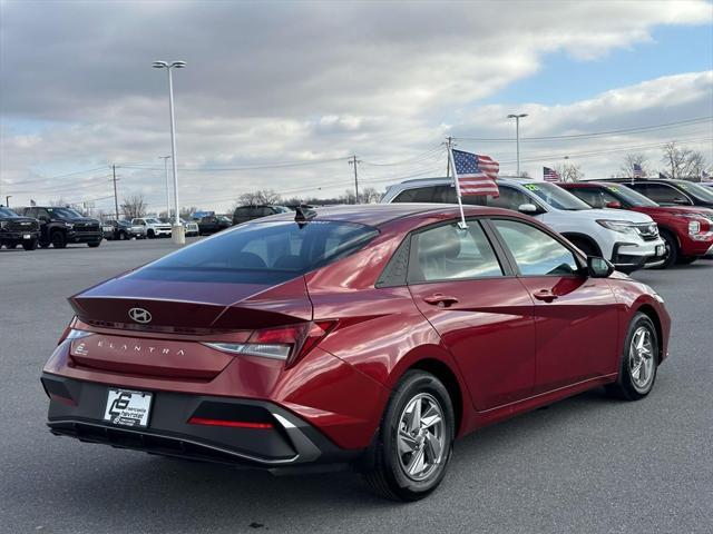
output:
[[616,373],[618,312],[608,281],[586,276],[583,261],[555,234],[519,219],[489,224],[535,305],[535,393]]

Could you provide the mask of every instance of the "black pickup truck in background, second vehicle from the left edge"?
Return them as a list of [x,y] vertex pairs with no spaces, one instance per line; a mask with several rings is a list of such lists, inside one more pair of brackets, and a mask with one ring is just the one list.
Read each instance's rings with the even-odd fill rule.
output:
[[65,248],[70,243],[86,243],[98,247],[104,239],[101,224],[97,219],[84,217],[71,208],[55,206],[32,206],[23,208],[22,215],[40,221],[40,247],[50,245]]

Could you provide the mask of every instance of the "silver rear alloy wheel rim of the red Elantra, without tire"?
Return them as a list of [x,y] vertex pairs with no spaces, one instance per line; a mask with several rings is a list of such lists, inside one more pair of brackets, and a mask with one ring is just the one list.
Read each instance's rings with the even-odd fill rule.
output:
[[399,418],[399,463],[412,481],[424,481],[438,471],[447,453],[446,423],[439,402],[428,393],[416,395]]

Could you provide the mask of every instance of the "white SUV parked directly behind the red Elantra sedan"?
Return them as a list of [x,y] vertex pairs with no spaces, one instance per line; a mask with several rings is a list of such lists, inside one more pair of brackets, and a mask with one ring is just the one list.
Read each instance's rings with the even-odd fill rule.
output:
[[[636,211],[594,209],[577,197],[546,181],[498,178],[500,196],[462,197],[477,204],[520,211],[558,231],[583,253],[609,259],[617,269],[632,273],[664,261],[665,244],[651,217]],[[457,202],[450,178],[409,180],[391,186],[382,202]]]

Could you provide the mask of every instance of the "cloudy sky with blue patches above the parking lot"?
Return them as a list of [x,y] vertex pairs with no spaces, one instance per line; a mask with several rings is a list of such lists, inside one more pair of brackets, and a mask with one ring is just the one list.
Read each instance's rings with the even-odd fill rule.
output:
[[163,209],[159,59],[188,63],[182,205],[339,195],[352,154],[361,187],[442,175],[447,136],[511,174],[512,112],[529,115],[534,177],[563,161],[609,176],[627,151],[656,168],[670,140],[713,161],[710,1],[0,0],[0,195],[110,208],[114,164],[119,198]]

